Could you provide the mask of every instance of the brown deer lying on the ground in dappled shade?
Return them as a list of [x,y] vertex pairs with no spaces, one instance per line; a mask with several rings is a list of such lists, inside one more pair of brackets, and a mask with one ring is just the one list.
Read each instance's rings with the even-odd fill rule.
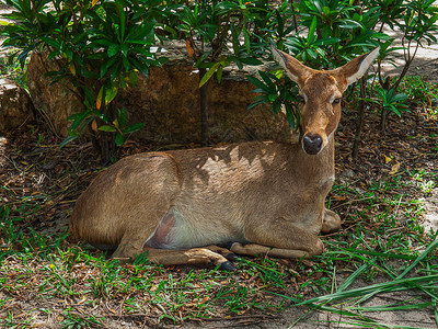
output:
[[[300,144],[249,141],[122,159],[78,198],[71,239],[113,249],[122,261],[148,252],[158,264],[228,270],[227,257],[235,254],[322,253],[318,234],[341,228],[324,201],[334,181],[342,94],[379,49],[326,71],[273,53],[300,88]],[[229,249],[217,247],[224,243]]]

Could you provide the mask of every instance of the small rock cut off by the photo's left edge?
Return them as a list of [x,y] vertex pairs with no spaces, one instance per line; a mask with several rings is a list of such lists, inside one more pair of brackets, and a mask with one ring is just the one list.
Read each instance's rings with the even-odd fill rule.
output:
[[0,79],[0,131],[34,122],[34,111],[30,95],[18,82]]

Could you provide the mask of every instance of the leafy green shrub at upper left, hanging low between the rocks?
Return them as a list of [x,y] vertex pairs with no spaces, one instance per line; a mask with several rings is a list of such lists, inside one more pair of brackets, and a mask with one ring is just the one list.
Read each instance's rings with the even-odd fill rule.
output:
[[160,65],[150,46],[155,44],[155,21],[151,18],[154,1],[48,1],[7,0],[14,8],[9,19],[18,24],[5,26],[3,46],[20,50],[10,57],[22,66],[33,50],[48,53],[59,70],[48,72],[51,83],[70,81],[83,103],[82,112],[72,115],[70,136],[87,128],[104,161],[124,136],[142,124],[128,125],[128,113],[118,91],[134,86],[138,73],[148,73]]

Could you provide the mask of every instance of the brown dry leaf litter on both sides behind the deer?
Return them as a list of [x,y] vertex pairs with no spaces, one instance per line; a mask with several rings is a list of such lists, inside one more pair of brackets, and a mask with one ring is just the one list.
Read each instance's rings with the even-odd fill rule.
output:
[[[336,134],[336,183],[348,181],[351,189],[366,189],[394,173],[406,177],[418,170],[438,172],[437,117],[412,109],[402,118],[390,116],[382,134],[378,113],[368,112],[358,158],[354,160],[356,113],[348,106],[344,112]],[[27,209],[24,229],[31,226],[42,230],[59,219],[67,220],[76,198],[104,168],[91,143],[74,141],[59,148],[60,141],[44,123],[0,133],[0,204],[9,204],[12,212]],[[128,140],[113,160],[158,147],[165,148]],[[342,215],[347,211],[342,207],[345,200],[332,196],[333,206]]]

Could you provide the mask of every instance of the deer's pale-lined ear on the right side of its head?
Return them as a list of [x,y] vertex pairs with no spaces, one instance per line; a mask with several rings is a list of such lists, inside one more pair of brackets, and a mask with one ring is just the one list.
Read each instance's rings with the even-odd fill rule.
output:
[[372,61],[379,56],[380,47],[377,47],[370,53],[364,54],[348,61],[343,67],[333,70],[333,76],[342,81],[346,89],[353,82],[359,80],[368,70]]

